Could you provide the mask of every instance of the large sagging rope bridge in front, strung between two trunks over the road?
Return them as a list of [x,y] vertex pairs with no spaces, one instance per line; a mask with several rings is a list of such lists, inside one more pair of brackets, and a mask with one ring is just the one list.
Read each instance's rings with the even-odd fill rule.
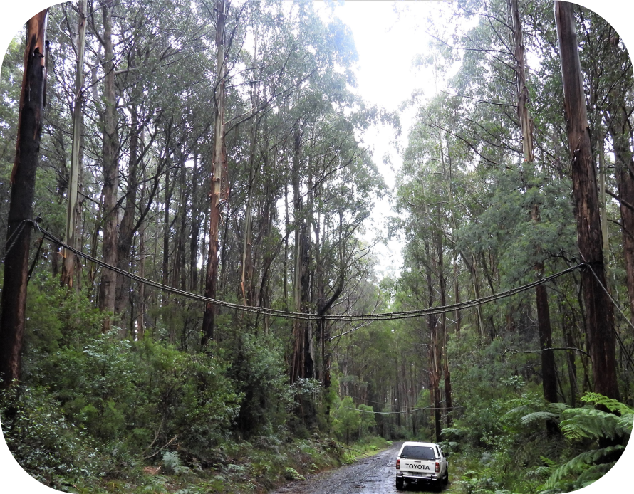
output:
[[[427,315],[436,315],[436,314],[442,314],[444,312],[452,312],[454,310],[464,310],[464,309],[475,307],[477,305],[493,302],[494,300],[500,300],[502,298],[511,297],[512,295],[516,295],[526,290],[530,290],[531,288],[535,288],[538,285],[549,283],[549,281],[559,278],[560,276],[563,276],[567,273],[571,273],[572,271],[578,268],[582,268],[583,266],[586,266],[586,263],[580,263],[580,264],[577,264],[576,266],[571,266],[568,269],[560,271],[559,273],[555,273],[554,275],[546,276],[545,278],[541,278],[532,283],[528,283],[526,285],[522,285],[516,288],[511,288],[510,290],[505,290],[495,295],[489,295],[487,297],[478,298],[476,300],[467,300],[461,303],[443,305],[440,307],[418,309],[418,310],[406,310],[402,312],[378,312],[373,314],[314,314],[314,313],[305,313],[305,312],[289,312],[286,310],[277,310],[277,309],[264,308],[264,307],[254,307],[249,305],[240,305],[237,303],[226,302],[224,300],[216,300],[214,298],[208,298],[208,297],[205,297],[204,295],[199,295],[197,293],[191,293],[185,290],[179,290],[177,288],[173,288],[168,285],[163,285],[162,283],[157,283],[156,281],[148,280],[147,278],[142,278],[141,276],[135,275],[134,273],[129,273],[128,271],[117,268],[116,266],[112,266],[108,263],[104,263],[103,261],[100,261],[99,259],[94,258],[93,256],[89,256],[88,254],[83,253],[82,251],[79,251],[78,249],[69,246],[67,243],[64,243],[63,241],[61,241],[61,239],[54,236],[53,233],[47,231],[45,228],[42,228],[36,221],[33,221],[31,219],[23,220],[21,224],[16,228],[14,235],[11,236],[14,238],[9,238],[9,241],[7,242],[9,246],[7,247],[7,250],[5,252],[5,257],[6,257],[6,253],[9,253],[11,248],[15,245],[17,238],[20,236],[20,233],[26,224],[31,224],[34,228],[36,228],[42,234],[43,237],[48,238],[49,240],[57,243],[59,246],[63,248],[68,249],[68,251],[71,251],[72,253],[76,254],[76,256],[85,258],[88,261],[91,261],[95,264],[98,264],[99,266],[102,266],[103,268],[112,270],[115,273],[118,273],[122,276],[135,280],[139,283],[145,283],[145,285],[149,285],[169,293],[174,293],[175,295],[181,295],[182,297],[191,298],[193,300],[199,300],[200,302],[204,302],[204,303],[212,303],[219,307],[239,310],[241,312],[249,312],[251,314],[261,314],[261,315],[269,315],[274,317],[285,317],[287,319],[299,319],[299,320],[309,320],[309,321],[317,321],[317,320],[345,321],[345,322],[383,321],[383,320],[410,319],[413,317],[424,317]],[[11,242],[11,240],[13,240],[13,242]],[[4,258],[2,259],[2,261],[4,262]]]

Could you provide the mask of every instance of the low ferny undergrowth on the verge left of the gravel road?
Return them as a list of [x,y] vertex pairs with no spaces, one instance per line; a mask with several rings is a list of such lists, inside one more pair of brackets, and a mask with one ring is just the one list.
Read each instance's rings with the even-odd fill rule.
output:
[[[310,439],[281,441],[276,437],[259,437],[250,442],[227,442],[209,451],[217,461],[209,468],[202,468],[195,458],[184,461],[185,455],[176,450],[165,451],[155,461],[128,457],[118,463],[117,472],[103,475],[100,468],[113,461],[108,458],[110,452],[90,451],[80,443],[71,446],[75,448],[73,452],[92,456],[92,463],[82,462],[83,471],[74,468],[43,475],[41,466],[34,462],[21,466],[36,480],[66,493],[207,494],[266,493],[289,481],[305,480],[306,475],[350,461],[345,450],[329,438],[314,435]],[[82,446],[84,449],[80,449]],[[76,458],[69,458],[69,464],[75,463],[73,459]],[[91,469],[86,469],[83,463],[88,463]]]

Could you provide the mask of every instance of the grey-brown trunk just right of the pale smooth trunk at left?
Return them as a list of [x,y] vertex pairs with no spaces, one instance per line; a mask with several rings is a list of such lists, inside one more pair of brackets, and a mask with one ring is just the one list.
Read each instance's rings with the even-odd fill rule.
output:
[[[102,260],[111,266],[117,265],[118,206],[117,189],[119,181],[117,101],[115,95],[115,66],[113,52],[113,24],[110,2],[101,5],[103,11],[104,49],[104,109],[103,109],[103,254]],[[115,286],[117,275],[104,268],[99,284],[99,309],[115,310]],[[112,320],[105,317],[103,332],[110,331]]]

